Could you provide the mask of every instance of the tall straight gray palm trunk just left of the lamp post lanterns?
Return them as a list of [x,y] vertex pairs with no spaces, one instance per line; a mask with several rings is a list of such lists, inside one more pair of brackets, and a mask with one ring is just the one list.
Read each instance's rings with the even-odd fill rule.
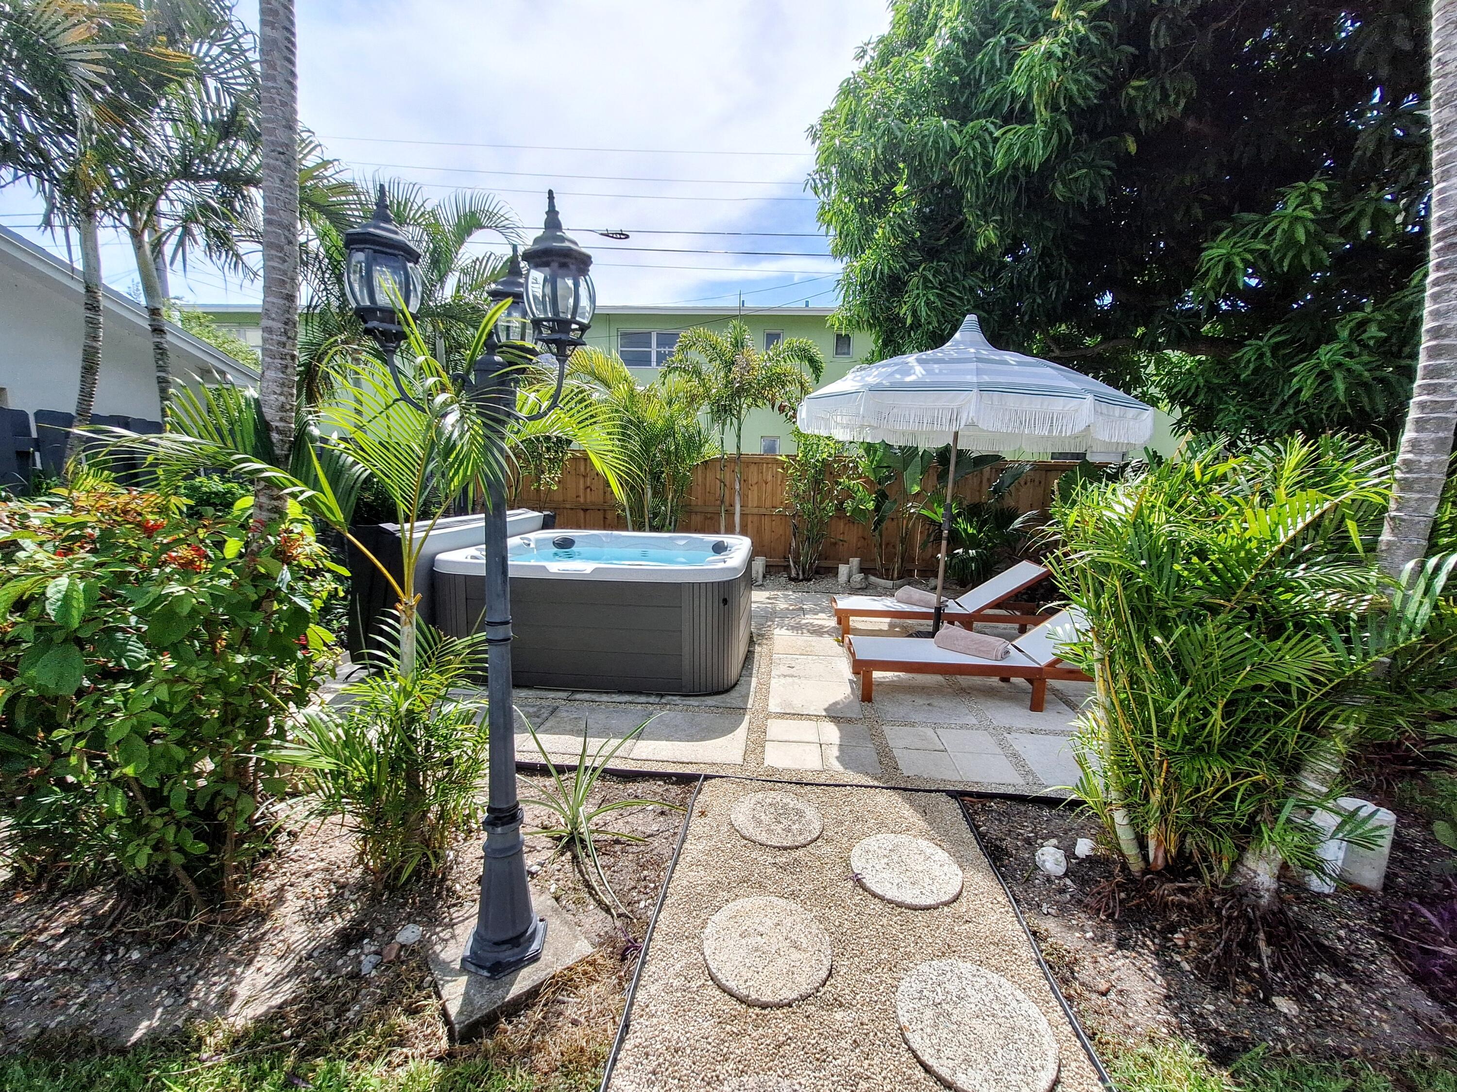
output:
[[[293,0],[259,0],[258,16],[264,146],[264,345],[258,400],[275,464],[287,466],[299,400],[299,73]],[[284,511],[283,492],[259,485],[254,494],[254,526],[274,523]]]

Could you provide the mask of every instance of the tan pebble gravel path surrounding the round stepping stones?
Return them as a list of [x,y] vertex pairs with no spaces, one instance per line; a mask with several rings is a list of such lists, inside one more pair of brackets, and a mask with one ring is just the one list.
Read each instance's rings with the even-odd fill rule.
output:
[[[927,960],[965,958],[1002,974],[1046,1015],[1058,1038],[1064,1092],[1097,1092],[1093,1067],[1037,970],[997,878],[957,804],[938,794],[794,785],[825,833],[775,850],[743,839],[730,810],[762,782],[704,785],[659,917],[632,1022],[612,1076],[613,1092],[736,1086],[800,1089],[938,1089],[896,1025],[896,989]],[[881,831],[925,837],[965,871],[962,897],[935,910],[905,910],[855,884],[849,852]],[[778,895],[809,910],[830,936],[829,980],[788,1008],[755,1009],[708,977],[702,932],[723,906]],[[774,1085],[778,1077],[785,1085]]]

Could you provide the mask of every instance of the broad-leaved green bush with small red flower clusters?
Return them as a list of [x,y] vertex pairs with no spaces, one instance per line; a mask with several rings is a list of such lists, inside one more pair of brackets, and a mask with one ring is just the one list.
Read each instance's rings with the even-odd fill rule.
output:
[[270,754],[332,664],[339,593],[294,508],[89,489],[0,504],[0,855],[236,894],[288,788]]

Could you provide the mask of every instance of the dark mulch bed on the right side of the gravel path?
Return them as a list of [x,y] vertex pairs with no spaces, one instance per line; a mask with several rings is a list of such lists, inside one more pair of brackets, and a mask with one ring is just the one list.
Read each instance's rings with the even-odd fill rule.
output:
[[[1389,1057],[1457,1041],[1457,997],[1428,990],[1403,965],[1393,920],[1429,900],[1450,858],[1410,814],[1397,815],[1386,890],[1317,895],[1287,884],[1281,965],[1266,974],[1253,949],[1220,961],[1225,922],[1196,877],[1135,881],[1113,853],[1078,859],[1097,823],[1077,805],[969,799],[978,830],[1096,1044],[1180,1035],[1228,1064],[1256,1048],[1289,1054]],[[1389,805],[1387,801],[1378,801]],[[1048,840],[1068,856],[1065,877],[1033,856]]]

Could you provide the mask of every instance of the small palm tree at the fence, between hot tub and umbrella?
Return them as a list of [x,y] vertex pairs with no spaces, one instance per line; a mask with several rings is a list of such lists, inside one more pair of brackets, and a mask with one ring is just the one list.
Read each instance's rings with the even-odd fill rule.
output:
[[[707,326],[683,331],[678,348],[664,364],[667,374],[682,376],[718,430],[734,430],[733,533],[740,533],[743,510],[743,419],[750,409],[778,409],[793,418],[794,406],[825,374],[825,357],[809,338],[788,338],[761,351],[749,328],[734,319],[724,333]],[[723,456],[720,456],[720,483]],[[720,485],[718,530],[724,523]]]

